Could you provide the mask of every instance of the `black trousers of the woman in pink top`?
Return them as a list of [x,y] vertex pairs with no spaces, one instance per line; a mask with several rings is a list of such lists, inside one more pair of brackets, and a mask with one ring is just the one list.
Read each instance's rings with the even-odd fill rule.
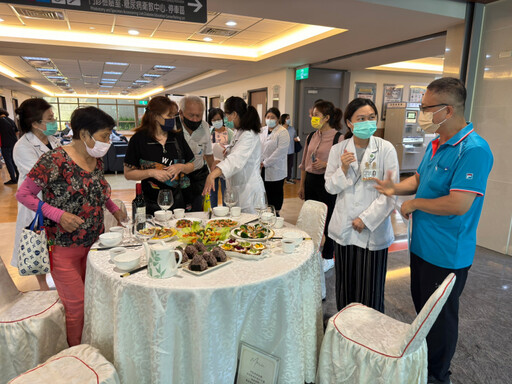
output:
[[325,243],[322,250],[324,259],[332,259],[334,254],[334,241],[329,237],[328,228],[331,221],[334,205],[336,204],[336,195],[331,195],[325,190],[324,175],[316,175],[306,172],[306,180],[304,181],[304,194],[306,200],[321,201],[327,205],[327,217],[325,219]]

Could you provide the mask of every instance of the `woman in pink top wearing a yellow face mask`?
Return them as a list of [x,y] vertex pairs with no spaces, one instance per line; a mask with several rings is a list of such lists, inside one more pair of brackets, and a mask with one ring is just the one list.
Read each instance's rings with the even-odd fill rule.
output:
[[320,100],[315,103],[311,113],[311,126],[315,131],[306,139],[300,164],[299,197],[302,200],[321,201],[328,209],[322,250],[324,272],[334,267],[334,242],[329,238],[327,229],[336,204],[336,196],[325,190],[324,174],[332,146],[343,140],[340,132],[342,116],[341,110],[330,101]]

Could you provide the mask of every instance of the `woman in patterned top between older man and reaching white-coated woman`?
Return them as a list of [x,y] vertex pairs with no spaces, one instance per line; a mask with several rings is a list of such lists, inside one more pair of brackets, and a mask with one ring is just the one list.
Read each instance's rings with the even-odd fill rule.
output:
[[[224,112],[220,108],[211,108],[208,112],[208,124],[212,134],[212,150],[214,164],[217,165],[224,159],[224,150],[233,140],[234,132],[232,129],[226,128],[224,125]],[[213,207],[218,205],[219,190],[224,196],[226,191],[226,180],[219,177],[215,182],[215,190],[210,195],[210,204]]]

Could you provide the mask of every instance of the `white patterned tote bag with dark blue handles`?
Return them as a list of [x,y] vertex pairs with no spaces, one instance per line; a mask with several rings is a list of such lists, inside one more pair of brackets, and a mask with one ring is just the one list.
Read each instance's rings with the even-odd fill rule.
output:
[[18,244],[18,272],[21,276],[44,275],[50,272],[50,255],[40,201],[36,217],[21,231]]

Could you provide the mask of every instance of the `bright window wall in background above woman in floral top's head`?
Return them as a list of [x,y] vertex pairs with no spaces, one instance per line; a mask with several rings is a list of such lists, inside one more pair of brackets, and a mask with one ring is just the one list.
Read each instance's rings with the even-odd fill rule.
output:
[[66,128],[66,123],[71,120],[71,114],[78,107],[94,106],[108,113],[117,123],[117,129],[121,131],[136,127],[142,119],[147,100],[125,99],[88,99],[74,97],[45,97],[53,106],[53,112],[59,122],[59,130]]

